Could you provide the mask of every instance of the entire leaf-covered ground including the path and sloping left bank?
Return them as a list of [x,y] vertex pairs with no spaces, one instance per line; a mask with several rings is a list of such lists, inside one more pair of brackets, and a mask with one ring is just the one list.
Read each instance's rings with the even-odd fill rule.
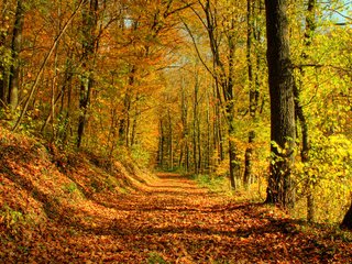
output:
[[352,263],[352,233],[0,129],[0,263]]

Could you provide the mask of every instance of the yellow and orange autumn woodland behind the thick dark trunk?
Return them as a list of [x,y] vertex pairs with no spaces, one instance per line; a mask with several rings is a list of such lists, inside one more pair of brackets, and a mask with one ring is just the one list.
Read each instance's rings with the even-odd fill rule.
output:
[[[288,1],[297,218],[341,222],[352,189],[351,2]],[[262,0],[2,0],[0,125],[107,163],[208,175],[265,199]]]

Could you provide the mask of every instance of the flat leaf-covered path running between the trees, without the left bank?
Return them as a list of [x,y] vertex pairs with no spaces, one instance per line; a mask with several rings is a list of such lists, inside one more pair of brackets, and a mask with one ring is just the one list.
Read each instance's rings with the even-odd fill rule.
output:
[[45,232],[52,238],[46,235],[45,241],[32,245],[25,261],[343,263],[352,260],[348,253],[351,243],[304,234],[292,220],[274,217],[271,209],[261,205],[228,202],[224,196],[199,188],[179,175],[160,174],[158,178],[145,190],[96,208],[99,218],[86,219],[86,226],[56,226],[57,232],[47,228]]

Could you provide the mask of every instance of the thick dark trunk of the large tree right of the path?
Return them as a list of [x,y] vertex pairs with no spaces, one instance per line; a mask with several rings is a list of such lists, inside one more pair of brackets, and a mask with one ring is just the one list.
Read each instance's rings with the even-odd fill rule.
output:
[[292,167],[296,136],[287,4],[287,0],[265,0],[272,124],[272,162],[266,202],[285,208],[294,206]]

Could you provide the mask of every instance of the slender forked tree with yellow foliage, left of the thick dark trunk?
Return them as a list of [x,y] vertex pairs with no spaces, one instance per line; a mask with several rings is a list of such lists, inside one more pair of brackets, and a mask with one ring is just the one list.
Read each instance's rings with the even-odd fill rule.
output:
[[235,69],[238,67],[235,53],[238,41],[241,38],[239,26],[244,16],[242,11],[243,2],[229,2],[211,0],[198,1],[199,8],[193,8],[193,12],[199,19],[208,38],[208,47],[211,52],[212,65],[208,65],[200,53],[195,33],[184,21],[186,30],[195,44],[198,57],[207,68],[215,81],[216,100],[219,103],[220,112],[223,114],[227,128],[229,178],[232,189],[237,189],[241,182],[239,150],[235,143],[235,88],[238,79]]

